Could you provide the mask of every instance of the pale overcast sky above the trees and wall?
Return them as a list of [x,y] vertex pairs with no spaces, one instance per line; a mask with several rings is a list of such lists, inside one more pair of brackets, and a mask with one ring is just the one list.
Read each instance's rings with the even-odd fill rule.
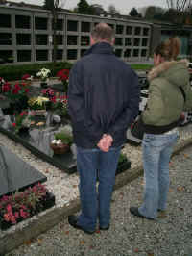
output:
[[[65,3],[63,8],[73,9],[77,6],[80,0],[60,0]],[[100,4],[105,10],[108,10],[109,5],[114,5],[121,14],[128,14],[132,7],[140,8],[145,6],[159,6],[166,8],[166,0],[86,0],[89,5]],[[12,2],[26,2],[30,4],[42,5],[44,0],[12,0]]]

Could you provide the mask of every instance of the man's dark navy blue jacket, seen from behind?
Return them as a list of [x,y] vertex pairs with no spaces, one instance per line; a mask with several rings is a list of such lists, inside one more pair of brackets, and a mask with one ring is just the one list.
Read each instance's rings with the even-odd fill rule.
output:
[[112,136],[112,146],[122,145],[138,115],[139,95],[137,75],[114,55],[112,46],[91,46],[69,76],[68,111],[76,145],[97,147],[103,134]]

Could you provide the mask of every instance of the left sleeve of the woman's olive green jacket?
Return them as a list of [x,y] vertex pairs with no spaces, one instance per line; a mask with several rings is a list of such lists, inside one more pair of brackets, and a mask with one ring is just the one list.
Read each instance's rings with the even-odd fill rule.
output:
[[145,124],[155,125],[163,115],[163,100],[161,91],[156,83],[152,83],[149,88],[149,98],[147,107],[142,113],[142,119]]

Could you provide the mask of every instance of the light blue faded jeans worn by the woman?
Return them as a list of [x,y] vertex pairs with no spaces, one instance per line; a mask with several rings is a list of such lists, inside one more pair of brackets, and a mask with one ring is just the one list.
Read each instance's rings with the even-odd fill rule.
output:
[[145,134],[142,142],[145,178],[144,201],[138,211],[149,218],[165,210],[169,192],[169,161],[179,133]]

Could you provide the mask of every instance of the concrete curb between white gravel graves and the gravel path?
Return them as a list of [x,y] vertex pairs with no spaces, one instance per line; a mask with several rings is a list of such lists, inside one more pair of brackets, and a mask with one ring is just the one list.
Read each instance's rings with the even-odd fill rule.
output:
[[[181,141],[174,150],[172,156],[179,154],[184,148],[192,145],[192,138]],[[121,188],[132,180],[138,178],[143,174],[142,165],[131,168],[116,177],[114,190]],[[28,242],[36,238],[39,234],[51,229],[58,224],[63,218],[67,218],[71,214],[75,214],[80,210],[80,200],[75,199],[70,202],[69,206],[62,208],[54,207],[46,212],[46,214],[39,215],[22,230],[15,230],[14,233],[8,233],[0,239],[0,256],[12,251],[22,243]]]

